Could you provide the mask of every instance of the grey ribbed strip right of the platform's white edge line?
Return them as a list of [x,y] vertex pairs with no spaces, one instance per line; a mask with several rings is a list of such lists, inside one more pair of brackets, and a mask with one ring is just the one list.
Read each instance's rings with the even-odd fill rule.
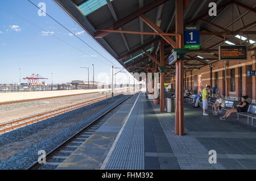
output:
[[105,169],[144,169],[144,98],[139,95]]

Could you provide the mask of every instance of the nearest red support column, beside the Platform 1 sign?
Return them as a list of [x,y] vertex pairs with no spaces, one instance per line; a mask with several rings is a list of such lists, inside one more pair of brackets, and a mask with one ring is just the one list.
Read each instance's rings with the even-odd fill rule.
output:
[[[176,37],[176,47],[181,44],[184,47],[183,31],[183,1],[175,0],[175,30],[181,35],[181,42]],[[184,135],[184,107],[183,107],[183,60],[176,61],[176,110],[175,110],[175,132],[176,134]]]

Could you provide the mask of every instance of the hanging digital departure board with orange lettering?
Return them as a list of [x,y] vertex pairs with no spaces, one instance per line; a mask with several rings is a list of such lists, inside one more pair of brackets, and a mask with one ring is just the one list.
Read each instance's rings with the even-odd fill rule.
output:
[[221,45],[218,47],[219,60],[247,60],[246,45]]

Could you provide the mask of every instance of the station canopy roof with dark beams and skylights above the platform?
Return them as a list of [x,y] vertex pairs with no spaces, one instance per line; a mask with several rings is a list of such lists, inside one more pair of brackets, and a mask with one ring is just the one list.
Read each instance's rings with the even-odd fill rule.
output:
[[[155,32],[139,15],[156,24],[164,33],[175,33],[175,0],[55,0],[86,32],[89,33],[129,72],[146,72],[152,60],[146,51],[155,56],[159,50],[159,35],[104,32],[118,30]],[[225,44],[248,45],[255,50],[256,2],[243,1],[198,1],[190,0],[184,9],[184,27],[200,27],[200,49],[188,50],[184,71],[199,69],[218,61],[218,46]],[[217,4],[217,16],[209,16],[210,2]],[[170,36],[175,40],[174,36]],[[166,43],[165,60],[172,47]],[[142,50],[143,49],[143,50]],[[166,65],[168,62],[166,61]],[[175,65],[167,65],[166,77],[175,75]]]

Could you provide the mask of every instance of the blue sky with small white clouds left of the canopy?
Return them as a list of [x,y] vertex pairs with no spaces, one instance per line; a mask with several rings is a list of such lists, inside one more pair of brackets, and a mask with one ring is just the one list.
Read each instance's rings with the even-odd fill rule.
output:
[[[75,25],[52,0],[32,0],[32,2],[36,5],[40,2],[46,3],[46,12],[49,15],[69,30],[75,32],[76,29],[77,36],[113,64],[121,66],[86,32],[82,31],[77,24]],[[63,43],[55,36],[79,48],[82,52]],[[39,16],[38,9],[27,0],[0,1],[0,83],[19,83],[19,68],[21,68],[21,77],[35,73],[49,78],[48,82],[51,82],[51,73],[53,73],[54,83],[65,83],[75,79],[86,79],[87,81],[88,73],[80,66],[89,66],[91,81],[92,64],[94,64],[94,79],[104,82],[104,73],[110,74],[112,64],[102,58],[100,54],[90,49],[77,37],[71,36],[67,30],[48,16]],[[26,81],[22,80],[22,82]]]

